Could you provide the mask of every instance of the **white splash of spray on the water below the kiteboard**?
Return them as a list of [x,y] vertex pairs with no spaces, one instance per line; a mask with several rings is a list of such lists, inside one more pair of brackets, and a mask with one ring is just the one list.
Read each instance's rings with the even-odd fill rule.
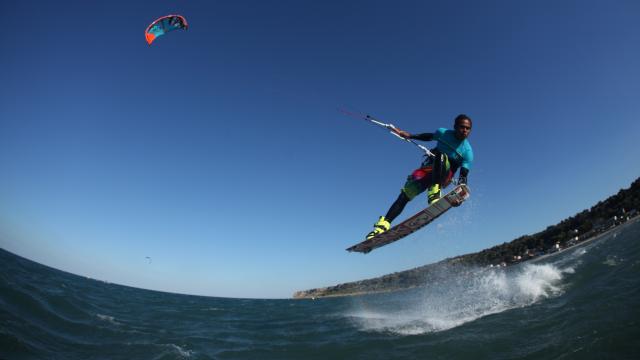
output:
[[347,314],[365,331],[401,335],[438,332],[483,316],[532,305],[562,293],[573,268],[523,264],[510,269],[440,269],[445,279],[418,291],[360,299]]

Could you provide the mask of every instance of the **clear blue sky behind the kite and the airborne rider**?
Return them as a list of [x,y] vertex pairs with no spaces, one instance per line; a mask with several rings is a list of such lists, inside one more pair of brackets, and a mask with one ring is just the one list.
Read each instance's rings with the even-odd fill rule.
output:
[[[288,297],[511,241],[640,176],[638,1],[23,0],[0,12],[0,247],[76,274]],[[190,29],[147,46],[146,26],[171,13]],[[421,154],[338,107],[414,133],[470,115],[472,199],[407,239],[346,252]]]

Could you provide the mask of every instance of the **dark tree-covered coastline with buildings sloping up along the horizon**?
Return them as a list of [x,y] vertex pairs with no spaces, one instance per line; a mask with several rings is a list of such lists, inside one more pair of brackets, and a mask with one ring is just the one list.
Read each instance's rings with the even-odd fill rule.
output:
[[437,281],[441,266],[506,267],[535,260],[594,241],[619,226],[640,221],[640,178],[628,189],[598,202],[560,223],[533,235],[524,235],[476,253],[445,259],[437,263],[396,272],[377,278],[338,284],[334,286],[297,291],[294,299],[356,296],[371,293],[409,290],[428,281]]

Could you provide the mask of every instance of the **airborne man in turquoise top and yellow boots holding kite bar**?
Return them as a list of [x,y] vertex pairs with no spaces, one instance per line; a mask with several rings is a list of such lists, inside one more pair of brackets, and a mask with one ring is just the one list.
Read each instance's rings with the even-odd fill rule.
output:
[[[429,204],[440,198],[441,189],[447,187],[453,179],[453,175],[460,169],[458,183],[466,184],[471,164],[473,163],[473,150],[467,137],[471,133],[471,118],[465,114],[456,116],[453,130],[440,128],[433,133],[412,135],[404,130],[393,128],[396,134],[405,139],[421,141],[437,141],[436,147],[431,150],[435,156],[429,156],[407,177],[400,195],[391,205],[385,216],[381,216],[373,225],[373,231],[367,234],[370,239],[391,228],[391,222],[402,212],[405,205],[418,194],[427,191]],[[459,206],[460,203],[453,204]]]

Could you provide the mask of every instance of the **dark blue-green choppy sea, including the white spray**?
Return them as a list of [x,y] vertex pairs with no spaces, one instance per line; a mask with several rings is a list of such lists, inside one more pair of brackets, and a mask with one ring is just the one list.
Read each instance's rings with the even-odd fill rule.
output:
[[1,359],[638,359],[640,223],[535,262],[318,300],[108,284],[0,251]]

